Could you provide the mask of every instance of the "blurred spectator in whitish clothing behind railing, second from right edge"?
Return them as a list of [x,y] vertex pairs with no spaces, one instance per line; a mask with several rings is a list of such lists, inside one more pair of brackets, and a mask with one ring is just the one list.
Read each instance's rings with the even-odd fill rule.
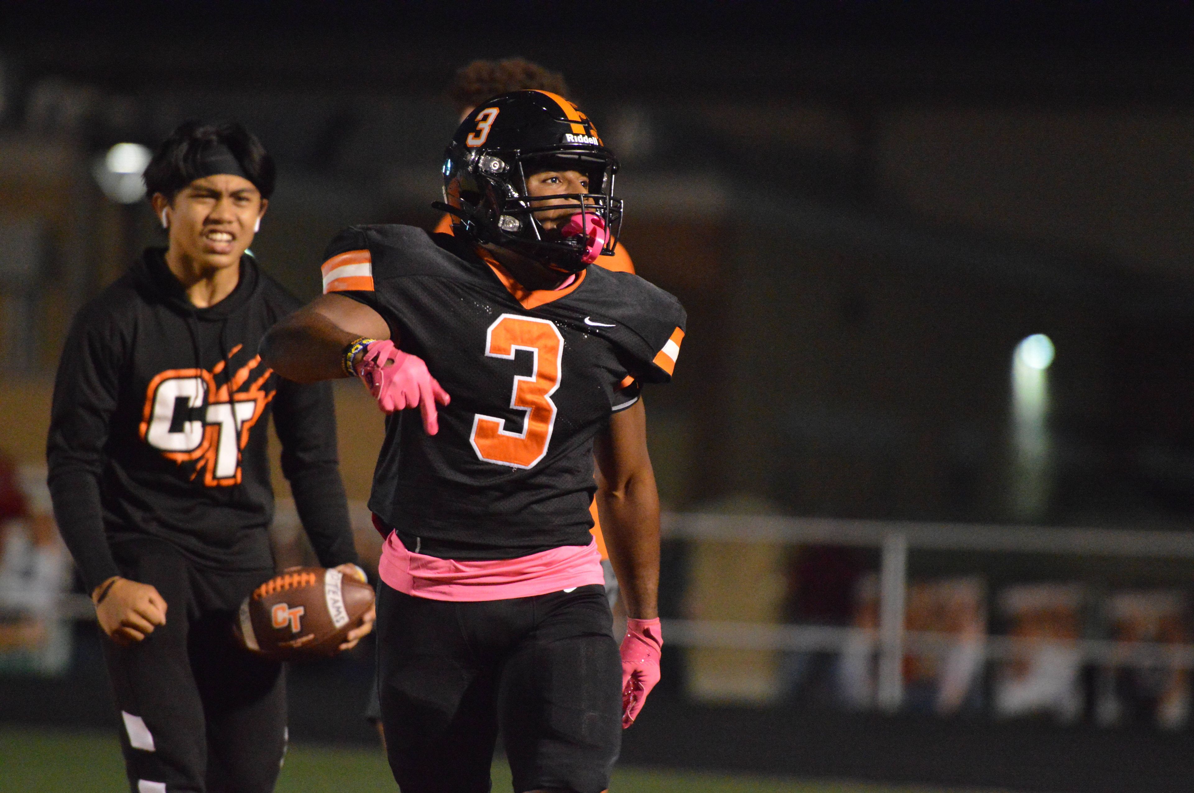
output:
[[1083,602],[1081,584],[1015,584],[999,593],[1008,636],[1018,642],[1011,659],[996,671],[997,715],[1052,715],[1061,723],[1082,715],[1082,655],[1077,642]]

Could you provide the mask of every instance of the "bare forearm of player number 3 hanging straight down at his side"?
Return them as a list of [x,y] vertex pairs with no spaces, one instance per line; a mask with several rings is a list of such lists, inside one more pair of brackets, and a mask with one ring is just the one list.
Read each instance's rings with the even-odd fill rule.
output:
[[642,399],[610,416],[597,435],[597,510],[632,619],[659,617],[659,492],[647,453]]

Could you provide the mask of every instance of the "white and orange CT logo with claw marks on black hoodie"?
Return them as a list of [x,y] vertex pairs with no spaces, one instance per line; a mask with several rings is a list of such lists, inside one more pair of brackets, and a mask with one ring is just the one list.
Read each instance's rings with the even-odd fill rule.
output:
[[[228,359],[242,346],[233,347]],[[263,390],[272,368],[239,390],[260,363],[261,357],[254,355],[220,386],[215,378],[227,368],[227,361],[220,361],[210,372],[170,368],[159,373],[146,390],[141,440],[179,465],[195,461],[191,479],[203,471],[203,484],[209,488],[240,484],[240,452],[275,394]]]

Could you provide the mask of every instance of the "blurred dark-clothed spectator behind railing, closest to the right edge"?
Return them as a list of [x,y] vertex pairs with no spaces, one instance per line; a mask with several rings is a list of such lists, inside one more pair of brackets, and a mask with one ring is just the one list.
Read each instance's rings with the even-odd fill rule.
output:
[[1183,591],[1118,591],[1107,599],[1110,636],[1121,649],[1102,670],[1109,684],[1100,690],[1101,724],[1153,724],[1163,730],[1186,725],[1189,670],[1178,668],[1165,650],[1189,640],[1187,614]]

